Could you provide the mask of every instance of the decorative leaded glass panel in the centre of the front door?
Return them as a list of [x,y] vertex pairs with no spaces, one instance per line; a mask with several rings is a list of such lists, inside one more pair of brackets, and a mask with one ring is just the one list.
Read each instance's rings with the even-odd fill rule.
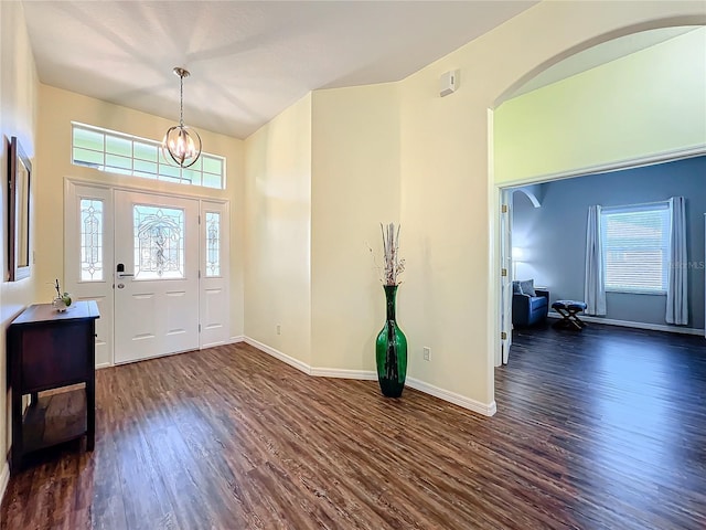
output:
[[135,204],[135,279],[184,277],[184,211]]

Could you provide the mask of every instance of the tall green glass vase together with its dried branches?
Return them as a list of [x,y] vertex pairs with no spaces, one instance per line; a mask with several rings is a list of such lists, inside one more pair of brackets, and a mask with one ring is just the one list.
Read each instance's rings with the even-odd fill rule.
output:
[[382,282],[387,300],[387,318],[375,346],[377,380],[383,395],[399,398],[407,375],[407,338],[397,326],[395,297],[399,286],[398,275],[405,269],[405,261],[399,259],[399,226],[395,231],[393,223],[386,226],[381,224],[381,230],[385,259]]

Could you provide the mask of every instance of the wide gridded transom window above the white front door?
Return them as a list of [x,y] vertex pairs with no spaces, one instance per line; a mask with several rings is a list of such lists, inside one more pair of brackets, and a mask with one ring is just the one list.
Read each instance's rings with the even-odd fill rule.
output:
[[190,168],[180,168],[160,157],[159,141],[79,123],[72,123],[72,157],[76,166],[143,179],[225,189],[223,157],[202,152]]

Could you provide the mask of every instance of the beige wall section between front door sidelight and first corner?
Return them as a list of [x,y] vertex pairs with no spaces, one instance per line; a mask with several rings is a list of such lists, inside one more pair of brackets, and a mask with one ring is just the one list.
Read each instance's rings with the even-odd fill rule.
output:
[[245,147],[245,335],[310,364],[311,95]]

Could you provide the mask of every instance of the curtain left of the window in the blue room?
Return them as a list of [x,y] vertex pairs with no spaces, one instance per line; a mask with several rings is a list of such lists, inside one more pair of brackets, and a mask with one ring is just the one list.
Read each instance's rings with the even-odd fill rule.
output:
[[606,278],[603,277],[603,244],[599,205],[588,208],[584,299],[587,315],[606,315]]

